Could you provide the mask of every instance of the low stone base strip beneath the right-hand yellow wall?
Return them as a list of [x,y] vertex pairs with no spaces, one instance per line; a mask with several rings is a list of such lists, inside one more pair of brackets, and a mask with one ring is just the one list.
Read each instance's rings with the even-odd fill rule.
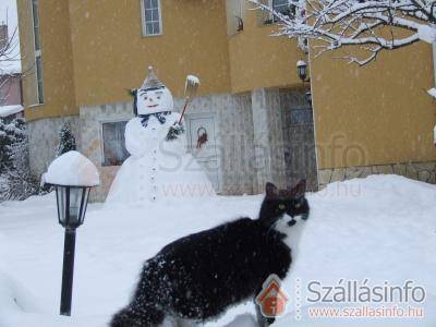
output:
[[365,178],[370,174],[399,174],[426,183],[436,183],[436,162],[402,162],[380,166],[322,169],[318,171],[319,189],[328,183]]

